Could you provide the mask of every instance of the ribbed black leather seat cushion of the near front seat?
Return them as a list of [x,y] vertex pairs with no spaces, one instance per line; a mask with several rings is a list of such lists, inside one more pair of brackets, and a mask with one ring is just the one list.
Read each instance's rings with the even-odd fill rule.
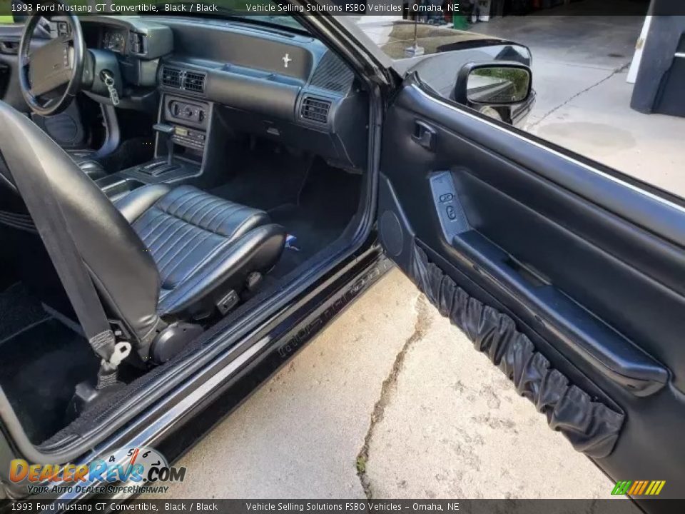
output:
[[156,263],[160,316],[208,316],[250,272],[273,266],[285,243],[264,211],[193,186],[145,186],[116,206]]

